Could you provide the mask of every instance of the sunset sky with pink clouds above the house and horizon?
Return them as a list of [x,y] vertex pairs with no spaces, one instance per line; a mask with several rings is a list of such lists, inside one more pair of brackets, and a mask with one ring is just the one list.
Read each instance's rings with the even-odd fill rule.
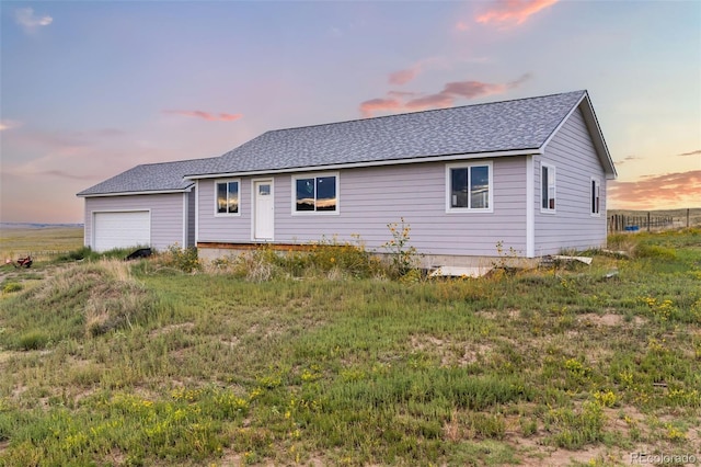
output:
[[609,208],[701,207],[701,1],[0,2],[0,221],[266,130],[586,89]]

